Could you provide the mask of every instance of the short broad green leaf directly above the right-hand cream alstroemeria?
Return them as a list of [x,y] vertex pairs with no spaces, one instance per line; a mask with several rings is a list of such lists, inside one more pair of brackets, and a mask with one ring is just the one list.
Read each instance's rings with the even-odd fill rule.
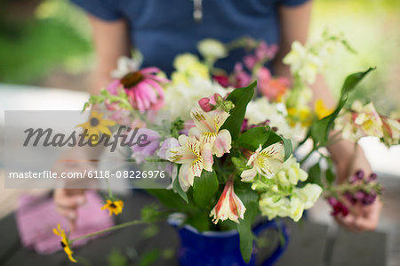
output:
[[258,149],[260,144],[263,146],[268,141],[270,132],[271,130],[266,126],[253,127],[240,135],[237,144],[239,147],[250,150]]

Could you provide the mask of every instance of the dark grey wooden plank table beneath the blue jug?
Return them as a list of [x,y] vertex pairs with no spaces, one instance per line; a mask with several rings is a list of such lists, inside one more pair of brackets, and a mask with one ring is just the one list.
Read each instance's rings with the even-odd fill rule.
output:
[[[154,200],[140,192],[125,198],[124,214],[117,216],[116,222],[139,219],[140,208]],[[287,225],[291,230],[290,243],[276,266],[385,265],[386,236],[383,233],[353,234],[339,230],[334,236],[329,236],[328,227],[324,224],[287,221]],[[20,246],[13,214],[0,221],[0,235],[0,265],[76,265],[68,262],[62,252],[40,255]],[[179,238],[170,225],[138,225],[117,230],[84,247],[76,248],[75,256],[78,259],[84,258],[80,260],[82,265],[93,266],[178,265],[175,256],[178,246]],[[262,252],[260,249],[261,254],[268,254],[268,251]]]

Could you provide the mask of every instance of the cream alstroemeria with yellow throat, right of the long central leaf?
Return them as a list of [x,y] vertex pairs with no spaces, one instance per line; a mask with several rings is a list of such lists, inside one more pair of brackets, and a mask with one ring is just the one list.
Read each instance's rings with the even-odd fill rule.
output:
[[[280,166],[284,163],[283,145],[277,142],[262,149],[261,144],[247,162],[247,166],[252,165],[252,169],[244,170],[240,177],[242,181],[252,181],[260,173],[261,175],[272,178]],[[261,150],[262,149],[262,150]]]

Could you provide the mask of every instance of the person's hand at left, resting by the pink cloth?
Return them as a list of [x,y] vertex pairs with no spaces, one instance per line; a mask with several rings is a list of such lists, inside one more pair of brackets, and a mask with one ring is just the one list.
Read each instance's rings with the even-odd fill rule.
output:
[[54,203],[59,214],[68,219],[69,230],[76,230],[77,208],[86,202],[84,189],[55,189]]

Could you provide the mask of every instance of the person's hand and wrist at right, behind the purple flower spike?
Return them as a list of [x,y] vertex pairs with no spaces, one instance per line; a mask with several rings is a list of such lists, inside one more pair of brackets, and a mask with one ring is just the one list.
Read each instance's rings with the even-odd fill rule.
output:
[[[371,165],[368,163],[363,149],[353,143],[351,145],[353,148],[349,146],[349,149],[342,149],[341,158],[338,157],[336,160],[339,183],[348,180],[358,170],[363,171],[365,177],[372,173]],[[376,229],[382,207],[379,197],[369,206],[364,206],[361,203],[352,205],[346,197],[341,198],[341,201],[348,207],[349,213],[346,216],[341,214],[335,216],[335,220],[340,225],[356,232]]]

